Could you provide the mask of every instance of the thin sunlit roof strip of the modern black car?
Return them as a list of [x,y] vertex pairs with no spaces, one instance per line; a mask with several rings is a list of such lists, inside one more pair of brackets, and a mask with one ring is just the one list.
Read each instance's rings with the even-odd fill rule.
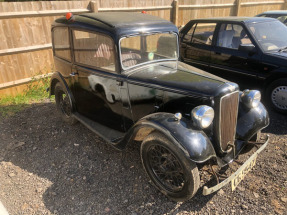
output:
[[251,23],[251,22],[267,22],[267,21],[274,21],[272,18],[267,17],[243,17],[243,16],[227,16],[227,17],[212,17],[212,18],[202,18],[202,19],[194,19],[192,21],[204,21],[204,22],[244,22],[244,23]]

